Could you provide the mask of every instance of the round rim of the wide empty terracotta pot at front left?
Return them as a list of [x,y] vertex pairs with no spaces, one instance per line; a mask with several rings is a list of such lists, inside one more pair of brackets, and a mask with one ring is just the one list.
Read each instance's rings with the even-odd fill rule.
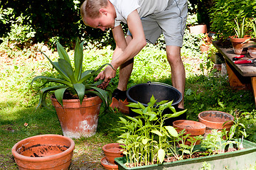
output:
[[[60,137],[60,138],[64,138],[65,140],[68,140],[68,142],[70,142],[70,147],[68,147],[68,149],[66,149],[64,152],[58,153],[58,154],[54,154],[54,155],[50,155],[47,157],[26,157],[23,156],[21,154],[18,154],[17,152],[17,147],[18,145],[22,145],[23,143],[29,142],[31,140],[35,140],[41,137]],[[36,136],[32,136],[32,137],[28,137],[26,139],[20,140],[18,141],[14,147],[12,147],[11,152],[14,155],[15,159],[21,159],[23,161],[27,161],[27,162],[47,162],[50,161],[52,159],[60,159],[61,157],[65,157],[65,155],[70,154],[71,152],[73,152],[73,149],[75,148],[75,142],[73,140],[71,140],[69,137],[65,137],[63,135],[54,135],[54,134],[47,134],[47,135],[36,135]]]

